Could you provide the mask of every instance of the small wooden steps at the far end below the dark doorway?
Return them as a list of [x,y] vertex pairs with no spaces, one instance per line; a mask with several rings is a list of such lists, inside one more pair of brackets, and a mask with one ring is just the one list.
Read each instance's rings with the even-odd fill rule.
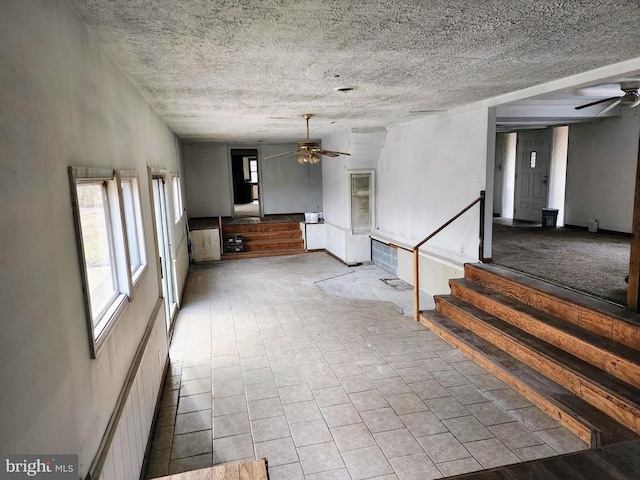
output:
[[[304,253],[304,240],[299,222],[265,222],[223,225],[222,240],[242,235],[242,252],[222,255],[223,260],[235,258],[274,257]],[[223,246],[224,248],[224,246]]]

